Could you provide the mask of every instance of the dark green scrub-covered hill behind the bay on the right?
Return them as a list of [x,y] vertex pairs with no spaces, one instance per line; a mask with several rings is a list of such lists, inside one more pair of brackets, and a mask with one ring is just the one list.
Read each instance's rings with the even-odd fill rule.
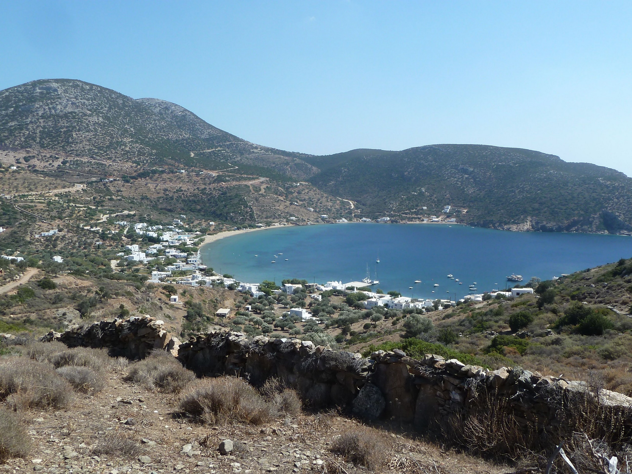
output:
[[555,155],[488,145],[428,145],[303,159],[322,170],[310,178],[314,185],[357,202],[361,216],[439,216],[451,205],[449,217],[475,226],[632,231],[631,178]]

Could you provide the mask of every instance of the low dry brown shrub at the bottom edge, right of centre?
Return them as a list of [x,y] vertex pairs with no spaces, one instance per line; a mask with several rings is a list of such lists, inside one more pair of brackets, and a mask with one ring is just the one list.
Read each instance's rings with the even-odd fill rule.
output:
[[350,463],[374,470],[386,461],[388,443],[379,431],[360,426],[335,437],[330,450]]

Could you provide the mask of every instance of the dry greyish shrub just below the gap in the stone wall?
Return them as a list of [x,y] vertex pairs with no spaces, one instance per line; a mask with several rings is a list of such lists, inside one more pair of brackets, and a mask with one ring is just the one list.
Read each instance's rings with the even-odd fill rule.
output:
[[143,384],[148,390],[168,393],[181,391],[193,379],[195,374],[165,351],[154,351],[149,357],[134,363],[126,377],[126,380]]

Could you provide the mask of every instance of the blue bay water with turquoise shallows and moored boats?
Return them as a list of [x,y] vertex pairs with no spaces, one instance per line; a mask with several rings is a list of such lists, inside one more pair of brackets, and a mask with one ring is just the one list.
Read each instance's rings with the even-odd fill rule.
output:
[[[375,278],[377,269],[380,281],[373,288],[415,298],[461,298],[473,282],[477,293],[482,293],[515,284],[506,281],[511,274],[522,275],[526,283],[532,276],[550,279],[632,257],[632,238],[362,222],[238,234],[205,245],[201,254],[205,265],[251,283],[264,279],[279,283],[293,277],[317,283],[360,281],[368,263],[371,277]],[[448,279],[447,274],[463,284]],[[435,283],[439,286],[434,287]]]

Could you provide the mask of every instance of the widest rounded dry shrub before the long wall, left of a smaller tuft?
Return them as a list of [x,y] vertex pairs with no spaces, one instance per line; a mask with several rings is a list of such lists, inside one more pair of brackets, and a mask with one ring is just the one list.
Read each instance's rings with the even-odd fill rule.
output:
[[235,377],[200,380],[179,407],[211,424],[234,420],[260,425],[270,417],[270,406],[257,390]]

